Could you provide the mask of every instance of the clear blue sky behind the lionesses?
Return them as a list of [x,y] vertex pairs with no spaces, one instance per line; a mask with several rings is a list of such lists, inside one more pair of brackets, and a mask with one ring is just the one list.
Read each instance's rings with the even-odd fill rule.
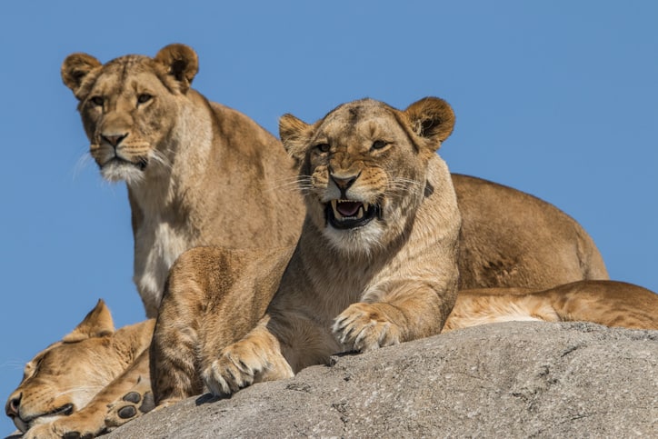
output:
[[[65,56],[199,54],[194,87],[276,133],[364,96],[444,97],[454,172],[537,195],[658,291],[658,2],[3,2],[0,395],[99,297],[141,320],[125,185],[86,155]],[[8,418],[0,432],[13,431]]]

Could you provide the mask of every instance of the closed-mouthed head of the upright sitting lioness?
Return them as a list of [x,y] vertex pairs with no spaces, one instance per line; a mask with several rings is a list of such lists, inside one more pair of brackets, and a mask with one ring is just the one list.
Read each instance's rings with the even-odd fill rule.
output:
[[186,45],[105,65],[91,55],[66,57],[62,79],[79,100],[90,153],[106,179],[131,184],[153,164],[166,166],[174,115],[197,70],[197,56]]

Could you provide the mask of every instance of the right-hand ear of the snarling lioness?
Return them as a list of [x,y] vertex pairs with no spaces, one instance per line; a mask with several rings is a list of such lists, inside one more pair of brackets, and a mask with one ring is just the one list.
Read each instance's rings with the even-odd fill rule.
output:
[[424,97],[409,105],[404,114],[414,133],[427,139],[434,151],[453,133],[453,108],[438,97]]

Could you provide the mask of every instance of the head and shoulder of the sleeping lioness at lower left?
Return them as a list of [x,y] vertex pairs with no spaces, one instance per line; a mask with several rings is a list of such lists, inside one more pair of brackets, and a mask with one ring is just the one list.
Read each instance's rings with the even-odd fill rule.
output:
[[[9,395],[5,413],[25,438],[100,434],[107,404],[148,380],[148,346],[155,320],[115,332],[103,301],[62,341],[25,365],[23,381]],[[106,389],[110,389],[108,392]]]

